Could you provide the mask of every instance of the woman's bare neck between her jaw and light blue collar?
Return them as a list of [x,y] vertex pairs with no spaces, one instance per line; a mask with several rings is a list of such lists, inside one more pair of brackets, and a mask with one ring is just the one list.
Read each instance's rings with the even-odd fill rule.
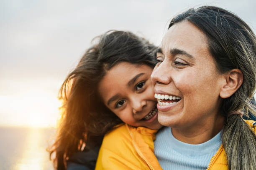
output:
[[189,144],[200,144],[213,138],[222,130],[225,117],[218,115],[201,120],[186,128],[172,128],[172,135],[179,141]]

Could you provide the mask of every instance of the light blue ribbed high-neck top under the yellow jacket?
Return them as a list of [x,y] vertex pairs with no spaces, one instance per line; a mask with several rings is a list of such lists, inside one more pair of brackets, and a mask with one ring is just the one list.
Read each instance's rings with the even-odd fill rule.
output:
[[183,143],[172,135],[172,128],[162,128],[156,134],[154,153],[164,170],[206,170],[221,145],[221,132],[205,143]]

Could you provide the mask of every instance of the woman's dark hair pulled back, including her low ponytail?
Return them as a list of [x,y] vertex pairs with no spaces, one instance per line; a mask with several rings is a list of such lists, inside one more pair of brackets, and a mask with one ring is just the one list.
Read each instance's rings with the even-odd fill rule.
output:
[[169,24],[181,21],[194,24],[207,37],[208,49],[219,72],[238,68],[243,72],[243,84],[223,100],[220,112],[226,117],[222,142],[229,170],[255,170],[256,135],[240,115],[229,115],[241,110],[256,115],[250,101],[256,89],[256,37],[249,26],[237,15],[214,6],[189,9],[174,17]]

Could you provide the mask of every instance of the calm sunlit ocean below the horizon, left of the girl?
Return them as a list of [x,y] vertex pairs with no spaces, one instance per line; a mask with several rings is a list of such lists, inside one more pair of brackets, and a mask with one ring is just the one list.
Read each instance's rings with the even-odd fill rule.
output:
[[54,128],[0,127],[1,170],[53,170],[46,148]]

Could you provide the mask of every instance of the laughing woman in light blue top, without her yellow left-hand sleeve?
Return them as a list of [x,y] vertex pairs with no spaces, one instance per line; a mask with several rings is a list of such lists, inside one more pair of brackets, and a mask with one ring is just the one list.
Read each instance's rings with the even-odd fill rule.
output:
[[187,10],[172,19],[157,60],[151,79],[158,120],[168,126],[154,142],[161,167],[255,169],[255,122],[242,119],[256,111],[256,37],[248,25],[220,7]]

